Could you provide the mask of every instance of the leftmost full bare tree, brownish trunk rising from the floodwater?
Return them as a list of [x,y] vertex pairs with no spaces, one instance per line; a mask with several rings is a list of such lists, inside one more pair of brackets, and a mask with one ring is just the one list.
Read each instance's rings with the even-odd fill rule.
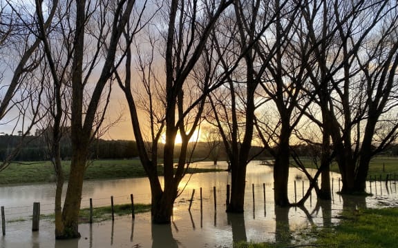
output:
[[[130,20],[135,1],[122,0],[117,1],[117,3],[111,1],[88,2],[87,5],[86,1],[76,1],[75,6],[72,1],[65,3],[59,7],[59,13],[64,14],[59,14],[59,19],[57,19],[57,24],[61,26],[61,37],[63,38],[61,41],[64,42],[58,47],[55,44],[51,45],[48,39],[49,30],[46,30],[43,25],[43,1],[37,0],[35,3],[39,23],[38,37],[44,45],[55,88],[56,110],[54,112],[55,125],[53,127],[55,141],[59,141],[57,138],[59,138],[59,121],[62,116],[60,99],[62,84],[67,83],[70,85],[72,92],[69,103],[71,106],[72,160],[61,217],[59,216],[59,198],[57,198],[55,238],[76,238],[80,236],[78,216],[84,171],[88,159],[88,147],[96,131],[93,132],[93,125],[97,120],[96,114],[104,87],[106,87],[115,68],[119,39],[124,26]],[[73,7],[75,7],[75,10],[73,10]],[[99,29],[88,28],[89,24],[97,24]],[[75,26],[73,27],[73,25]],[[91,50],[93,51],[92,59],[86,61],[91,42],[96,43],[95,49]],[[58,50],[57,48],[62,48],[63,46],[66,48],[66,57],[59,61],[58,59],[61,56],[58,53],[63,52],[63,50]],[[102,50],[104,50],[103,54]],[[97,66],[99,61],[103,62],[101,68]],[[56,63],[64,63],[58,67],[61,68],[61,71],[57,70]],[[98,70],[100,73],[93,84],[91,95],[87,99],[84,97],[84,93],[88,90],[88,81],[93,81],[91,75],[94,70]],[[59,148],[59,145],[55,144],[56,167],[59,168],[60,158],[57,147]]]

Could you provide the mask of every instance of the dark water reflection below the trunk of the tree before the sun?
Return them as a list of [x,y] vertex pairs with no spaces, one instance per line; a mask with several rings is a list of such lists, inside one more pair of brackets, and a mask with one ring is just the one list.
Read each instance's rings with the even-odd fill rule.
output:
[[152,224],[152,248],[178,247],[178,241],[173,238],[171,225]]

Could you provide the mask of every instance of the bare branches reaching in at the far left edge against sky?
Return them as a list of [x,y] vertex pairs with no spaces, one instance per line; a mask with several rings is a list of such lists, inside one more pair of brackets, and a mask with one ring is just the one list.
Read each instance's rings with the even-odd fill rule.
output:
[[[43,54],[39,50],[39,39],[29,28],[35,21],[24,13],[23,6],[17,3],[0,3],[0,120],[6,125],[13,125],[12,132],[19,130],[22,136],[19,144],[2,161],[0,171],[6,169],[19,154],[26,143],[25,136],[39,121],[37,114],[43,82],[35,80],[35,71]],[[52,18],[53,13],[44,25],[48,25]],[[3,72],[8,72],[10,76],[4,76]]]

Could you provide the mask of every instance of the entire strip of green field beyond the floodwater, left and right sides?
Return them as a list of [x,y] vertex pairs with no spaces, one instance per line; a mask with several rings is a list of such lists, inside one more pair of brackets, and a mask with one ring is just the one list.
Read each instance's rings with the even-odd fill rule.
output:
[[[309,158],[302,158],[303,163],[308,168],[316,167]],[[70,161],[63,161],[66,180]],[[161,167],[159,167],[161,168]],[[339,173],[339,167],[333,163],[330,167],[332,172]],[[195,169],[190,168],[188,173],[214,172],[216,169]],[[159,169],[160,175],[162,169]],[[398,178],[398,157],[375,157],[370,162],[368,178],[374,180],[385,180],[387,174]],[[89,179],[108,179],[108,178],[133,178],[146,176],[144,168],[138,159],[129,160],[97,160],[87,167],[84,178]],[[24,162],[13,163],[7,169],[0,172],[0,185],[12,183],[42,183],[54,181],[54,169],[49,161],[46,162]]]

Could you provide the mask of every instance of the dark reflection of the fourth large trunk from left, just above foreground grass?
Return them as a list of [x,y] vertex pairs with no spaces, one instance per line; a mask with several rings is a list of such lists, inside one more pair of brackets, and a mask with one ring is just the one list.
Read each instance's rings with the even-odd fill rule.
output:
[[275,242],[277,244],[290,244],[292,241],[289,210],[289,207],[275,206]]

